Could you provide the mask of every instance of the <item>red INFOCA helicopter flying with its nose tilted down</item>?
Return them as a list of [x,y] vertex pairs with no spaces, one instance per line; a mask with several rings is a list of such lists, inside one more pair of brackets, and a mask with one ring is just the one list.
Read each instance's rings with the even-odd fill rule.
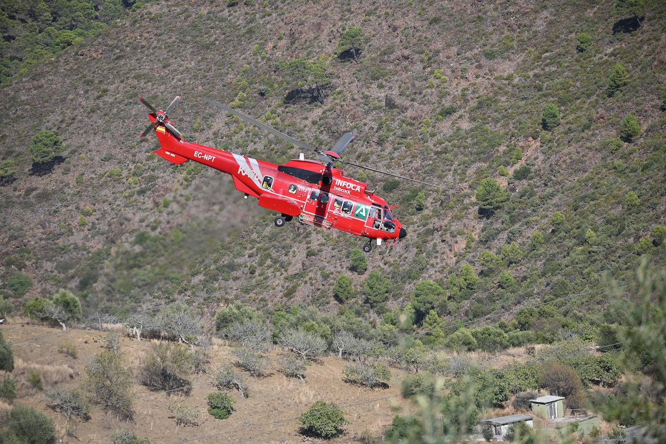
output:
[[[386,200],[375,194],[374,190],[368,188],[364,182],[344,176],[343,170],[334,166],[334,162],[347,163],[422,184],[426,184],[426,182],[342,160],[340,153],[354,140],[354,134],[344,134],[333,148],[320,152],[313,146],[296,140],[252,117],[211,99],[206,99],[215,107],[230,112],[287,142],[315,152],[319,159],[306,159],[301,153],[298,159],[278,165],[183,140],[180,131],[168,120],[169,112],[180,97],[173,99],[165,111],[158,111],[143,97],[140,100],[151,111],[148,114],[151,124],[141,134],[141,137],[145,137],[151,130],[155,130],[161,144],[161,148],[155,151],[159,156],[174,164],[194,160],[194,162],[230,174],[236,189],[244,192],[245,198],[247,196],[258,198],[260,206],[280,213],[275,218],[276,226],[282,227],[286,222],[298,217],[298,222],[301,224],[310,224],[326,228],[326,230],[337,228],[368,238],[368,242],[363,246],[366,253],[372,250],[373,239],[379,246],[382,244],[382,240],[397,242],[407,236],[407,230],[393,216],[391,210],[394,207],[388,206]],[[444,187],[438,186],[438,188]]]

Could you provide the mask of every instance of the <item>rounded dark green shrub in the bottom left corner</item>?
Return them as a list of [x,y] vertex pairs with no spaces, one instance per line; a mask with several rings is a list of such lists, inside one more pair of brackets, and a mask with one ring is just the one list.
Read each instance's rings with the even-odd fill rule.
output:
[[53,419],[33,407],[14,405],[5,422],[9,423],[9,431],[23,443],[51,444],[57,439]]

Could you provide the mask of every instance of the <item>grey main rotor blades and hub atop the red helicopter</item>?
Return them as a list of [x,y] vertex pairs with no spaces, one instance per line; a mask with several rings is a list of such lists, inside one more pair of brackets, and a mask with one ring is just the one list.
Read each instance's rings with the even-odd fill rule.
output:
[[397,178],[404,179],[404,180],[411,180],[412,182],[416,182],[418,184],[433,186],[435,188],[441,188],[442,190],[448,190],[448,191],[453,191],[453,192],[458,192],[459,191],[459,190],[454,190],[453,188],[446,188],[446,186],[430,184],[428,182],[422,182],[421,180],[416,180],[416,179],[408,178],[408,177],[405,177],[405,176],[400,176],[399,174],[394,174],[392,172],[382,171],[382,170],[378,170],[376,168],[370,168],[369,166],[363,166],[363,165],[356,164],[354,162],[348,162],[347,160],[342,160],[342,158],[340,157],[340,153],[342,153],[342,150],[344,150],[344,148],[346,148],[346,146],[348,144],[350,144],[352,142],[352,140],[354,140],[354,138],[356,137],[356,136],[354,136],[354,134],[352,134],[350,132],[346,132],[346,133],[342,134],[342,137],[340,137],[338,139],[338,141],[333,146],[333,148],[331,148],[330,150],[328,150],[326,152],[322,152],[322,151],[318,150],[317,148],[315,148],[312,145],[306,144],[305,142],[301,142],[300,140],[298,140],[296,138],[293,138],[292,136],[288,136],[287,134],[284,134],[284,132],[278,131],[275,128],[272,128],[272,127],[268,126],[267,124],[262,123],[259,120],[256,120],[256,118],[246,116],[242,112],[238,112],[235,109],[232,109],[232,108],[230,108],[226,105],[222,105],[222,103],[219,103],[217,101],[214,101],[214,100],[208,99],[208,98],[205,98],[204,100],[206,102],[210,103],[210,105],[213,105],[214,107],[218,107],[219,109],[222,109],[226,112],[229,112],[230,114],[233,114],[234,116],[236,116],[236,117],[238,117],[242,120],[245,120],[246,122],[251,123],[254,126],[258,126],[262,130],[268,131],[268,132],[270,132],[270,134],[274,134],[275,136],[278,136],[279,138],[281,138],[282,140],[284,140],[286,142],[292,143],[296,146],[300,146],[300,148],[304,148],[306,150],[316,152],[317,158],[319,160],[321,160],[322,162],[324,162],[324,164],[326,164],[328,166],[332,165],[334,162],[342,162],[344,164],[357,166],[358,168],[364,168],[366,170],[378,172],[378,173],[381,173],[381,174],[386,174],[387,176],[393,176],[393,177],[397,177]]

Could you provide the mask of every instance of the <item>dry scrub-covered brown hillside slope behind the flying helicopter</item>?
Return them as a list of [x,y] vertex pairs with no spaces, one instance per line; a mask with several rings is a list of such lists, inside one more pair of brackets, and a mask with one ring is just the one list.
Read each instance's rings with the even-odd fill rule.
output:
[[[156,142],[135,138],[147,121],[136,100],[147,95],[165,104],[176,94],[184,101],[172,118],[198,142],[275,160],[297,154],[209,109],[202,97],[210,96],[235,101],[254,116],[265,114],[274,126],[324,146],[351,130],[359,138],[348,149],[350,158],[462,190],[396,187],[386,178],[350,171],[373,186],[383,183],[378,189],[400,204],[396,215],[410,227],[410,238],[390,259],[371,260],[390,276],[392,300],[400,302],[418,279],[446,286],[466,262],[480,272],[484,248],[497,251],[507,241],[525,247],[534,230],[545,234],[548,251],[525,252],[509,270],[523,284],[519,300],[533,290],[548,290],[557,276],[567,280],[567,290],[580,290],[603,270],[629,270],[633,244],[660,219],[663,223],[661,176],[645,181],[638,176],[663,166],[662,6],[650,3],[643,26],[628,33],[613,31],[622,18],[615,9],[589,9],[584,2],[405,3],[400,15],[394,7],[372,3],[353,9],[339,2],[229,8],[198,1],[168,8],[149,3],[84,47],[38,65],[3,89],[0,149],[20,167],[17,180],[0,188],[3,256],[9,258],[3,280],[23,270],[38,283],[29,295],[65,286],[87,298],[88,312],[104,304],[118,311],[146,301],[165,280],[172,282],[168,297],[228,288],[210,272],[230,262],[229,252],[236,282],[248,270],[250,278],[262,280],[269,270],[318,266],[358,245],[349,236],[319,230],[278,235],[261,219],[256,229],[228,238],[220,254],[193,270],[191,264],[214,247],[211,238],[226,238],[220,230],[251,225],[265,213],[250,202],[239,204],[238,194],[228,194],[228,201],[228,178],[200,172],[191,162],[173,167],[147,156]],[[360,63],[333,55],[342,29],[350,25],[360,25],[367,37]],[[583,31],[593,39],[591,48],[579,53],[576,35]],[[296,57],[329,61],[331,87],[323,105],[284,103],[288,87],[280,63]],[[616,63],[627,68],[629,84],[608,97],[607,73]],[[547,102],[561,112],[561,123],[551,131],[541,128]],[[603,140],[617,135],[619,120],[629,112],[637,114],[643,134],[611,150],[614,145]],[[67,146],[65,162],[45,176],[27,172],[26,147],[40,128],[55,130]],[[527,169],[520,179],[509,177],[511,198],[498,212],[502,217],[480,218],[474,200],[480,180],[494,176],[506,183],[500,167],[510,176],[523,164]],[[595,188],[603,190],[567,201]],[[629,190],[640,202],[622,210]],[[221,207],[226,210],[220,213]],[[567,219],[561,239],[548,234],[554,210]],[[88,213],[88,224],[80,226],[77,218]],[[176,228],[185,233],[183,240]],[[585,251],[589,267],[569,263],[588,228],[601,236],[603,248]],[[433,237],[410,245],[420,230]],[[155,237],[137,237],[142,232]],[[608,250],[616,251],[618,260],[609,261]],[[176,260],[174,252],[182,258]],[[265,252],[272,268],[256,261]],[[326,305],[327,281],[334,276],[328,273],[334,270],[340,267],[326,268],[324,280],[307,278],[314,291],[305,286],[295,294],[302,300],[322,290]],[[191,284],[188,275],[194,276]],[[274,292],[266,293],[264,286],[256,293],[276,302],[290,284],[271,285],[277,286]],[[493,287],[492,279],[482,280],[482,290]]]

